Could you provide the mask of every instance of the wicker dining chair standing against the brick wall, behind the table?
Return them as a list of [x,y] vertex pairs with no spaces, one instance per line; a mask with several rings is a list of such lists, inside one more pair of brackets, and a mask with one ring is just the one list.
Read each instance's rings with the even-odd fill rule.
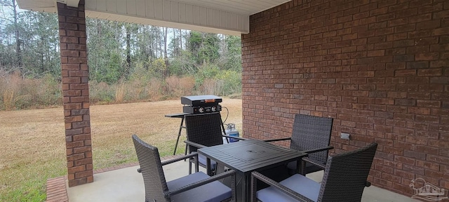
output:
[[287,167],[290,175],[294,175],[298,171],[302,175],[314,173],[323,170],[323,166],[328,159],[328,152],[330,149],[333,149],[333,147],[329,146],[332,124],[332,118],[295,114],[292,137],[265,141],[290,140],[290,149],[309,154],[309,156],[302,159],[302,170],[296,168],[297,164],[295,161],[288,163]]

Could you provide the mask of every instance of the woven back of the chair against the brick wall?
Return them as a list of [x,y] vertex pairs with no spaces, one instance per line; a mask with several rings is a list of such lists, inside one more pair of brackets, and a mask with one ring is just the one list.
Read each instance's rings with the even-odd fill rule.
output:
[[[328,117],[296,114],[290,149],[306,151],[328,147],[333,119]],[[328,150],[309,154],[309,159],[325,163]]]

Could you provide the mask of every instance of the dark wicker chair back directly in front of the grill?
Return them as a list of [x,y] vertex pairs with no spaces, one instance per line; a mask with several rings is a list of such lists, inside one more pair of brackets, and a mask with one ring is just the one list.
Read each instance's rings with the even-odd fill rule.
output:
[[[185,115],[187,140],[206,147],[223,144],[222,117],[219,112]],[[196,152],[196,148],[189,148]]]

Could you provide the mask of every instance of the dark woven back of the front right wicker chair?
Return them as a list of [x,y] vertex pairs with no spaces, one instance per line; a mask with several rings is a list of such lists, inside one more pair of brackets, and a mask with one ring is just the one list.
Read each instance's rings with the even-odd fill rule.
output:
[[376,149],[377,143],[371,143],[352,152],[330,156],[318,201],[361,201]]

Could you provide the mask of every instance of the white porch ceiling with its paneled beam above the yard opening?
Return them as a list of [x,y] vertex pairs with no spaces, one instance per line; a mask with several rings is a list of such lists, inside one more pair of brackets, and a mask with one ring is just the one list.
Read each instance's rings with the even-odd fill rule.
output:
[[[56,1],[16,0],[22,9],[56,13]],[[249,16],[290,0],[85,0],[86,16],[147,25],[240,35],[249,32]],[[146,11],[145,11],[145,8]],[[140,11],[140,12],[139,12]],[[158,15],[159,14],[159,15]]]

